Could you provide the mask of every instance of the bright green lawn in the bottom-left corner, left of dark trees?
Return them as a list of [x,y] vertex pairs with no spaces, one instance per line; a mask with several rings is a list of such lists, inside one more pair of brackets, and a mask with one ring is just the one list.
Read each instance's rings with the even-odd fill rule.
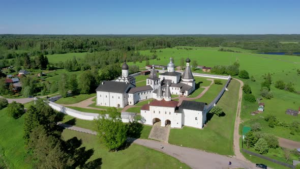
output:
[[0,155],[9,168],[33,168],[26,160],[23,139],[23,116],[9,118],[6,108],[0,110]]

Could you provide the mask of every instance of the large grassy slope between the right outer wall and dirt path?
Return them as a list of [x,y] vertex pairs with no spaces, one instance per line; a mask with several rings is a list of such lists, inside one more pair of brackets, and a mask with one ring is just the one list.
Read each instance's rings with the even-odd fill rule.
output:
[[212,116],[208,113],[207,126],[203,129],[192,127],[171,129],[169,143],[224,155],[233,155],[233,129],[238,88],[239,82],[231,80],[228,86],[229,91],[224,93],[217,104],[223,108],[226,114],[224,117]]

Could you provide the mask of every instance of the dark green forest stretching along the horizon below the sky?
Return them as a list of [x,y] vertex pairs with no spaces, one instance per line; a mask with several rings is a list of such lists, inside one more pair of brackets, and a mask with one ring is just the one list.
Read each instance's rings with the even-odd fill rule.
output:
[[0,35],[0,59],[118,49],[136,51],[174,46],[241,47],[258,51],[300,51],[300,35]]

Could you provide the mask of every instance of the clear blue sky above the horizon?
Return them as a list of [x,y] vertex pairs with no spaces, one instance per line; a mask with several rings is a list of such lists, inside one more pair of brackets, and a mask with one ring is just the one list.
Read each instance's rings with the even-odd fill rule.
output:
[[300,34],[300,1],[0,0],[0,34]]

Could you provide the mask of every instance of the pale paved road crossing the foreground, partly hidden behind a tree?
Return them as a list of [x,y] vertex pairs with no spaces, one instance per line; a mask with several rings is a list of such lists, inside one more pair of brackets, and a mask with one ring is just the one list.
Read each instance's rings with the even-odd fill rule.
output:
[[[58,123],[58,125],[71,130],[90,133],[94,135],[97,134],[97,132],[95,131],[76,126],[71,126],[62,123]],[[128,141],[168,154],[174,158],[177,158],[181,162],[186,163],[192,168],[255,168],[254,164],[244,162],[243,160],[239,160],[236,158],[231,158],[214,153],[208,153],[205,151],[187,147],[170,145],[168,143],[158,142],[155,140],[128,138]],[[160,146],[163,146],[164,148],[161,149]],[[230,167],[228,167],[229,161],[232,162],[232,165]]]

